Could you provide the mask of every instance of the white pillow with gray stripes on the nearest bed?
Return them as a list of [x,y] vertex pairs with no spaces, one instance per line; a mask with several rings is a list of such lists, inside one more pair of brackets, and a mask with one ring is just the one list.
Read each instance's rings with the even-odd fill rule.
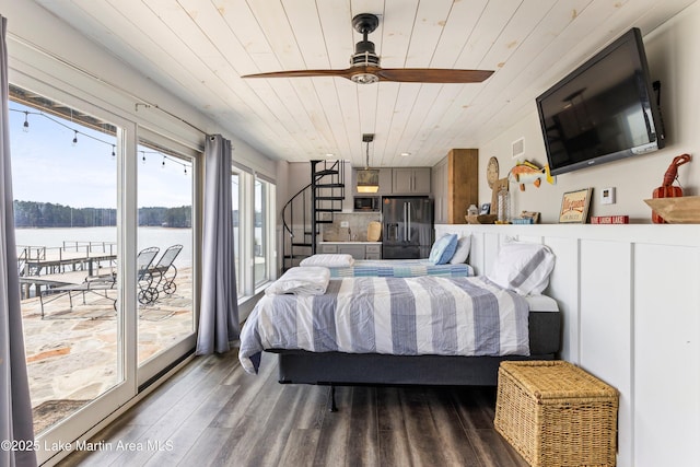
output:
[[510,242],[501,246],[487,277],[521,295],[539,295],[549,284],[555,255],[538,243]]

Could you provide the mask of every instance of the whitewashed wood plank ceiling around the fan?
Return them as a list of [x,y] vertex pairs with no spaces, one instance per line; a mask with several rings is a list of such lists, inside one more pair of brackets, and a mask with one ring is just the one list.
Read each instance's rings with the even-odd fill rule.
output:
[[[432,166],[478,148],[607,43],[695,0],[35,0],[273,160]],[[382,67],[495,70],[479,84],[242,79],[345,69],[358,13]],[[651,63],[653,70],[653,63]],[[654,77],[652,77],[654,78]],[[401,155],[409,153],[410,155]]]

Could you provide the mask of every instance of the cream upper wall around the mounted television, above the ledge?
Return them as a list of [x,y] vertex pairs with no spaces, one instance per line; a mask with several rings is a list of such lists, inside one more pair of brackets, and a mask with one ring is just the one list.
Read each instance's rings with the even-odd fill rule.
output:
[[[539,211],[542,222],[558,221],[561,196],[565,191],[580,188],[594,188],[592,215],[627,214],[632,222],[650,223],[651,209],[644,199],[651,198],[654,188],[661,185],[666,168],[674,156],[689,153],[697,161],[679,168],[680,184],[686,195],[700,195],[700,4],[695,3],[676,17],[664,23],[644,36],[644,46],[651,68],[651,79],[662,83],[662,112],[665,121],[666,148],[642,156],[617,161],[597,167],[584,168],[557,176],[555,186],[542,184],[540,188],[527,185],[525,191],[518,191],[511,184],[514,214],[523,210]],[[593,55],[595,50],[591,50]],[[587,57],[582,57],[583,62]],[[563,78],[563,77],[560,77]],[[553,82],[551,83],[553,84]],[[546,91],[542,89],[541,92]],[[532,102],[532,112],[498,138],[479,148],[479,201],[490,202],[491,191],[486,180],[486,166],[489,157],[497,156],[500,176],[504,177],[513,167],[511,143],[525,138],[525,159],[539,165],[547,163],[545,144],[539,118]],[[602,188],[617,188],[617,203],[602,206],[598,195]]]

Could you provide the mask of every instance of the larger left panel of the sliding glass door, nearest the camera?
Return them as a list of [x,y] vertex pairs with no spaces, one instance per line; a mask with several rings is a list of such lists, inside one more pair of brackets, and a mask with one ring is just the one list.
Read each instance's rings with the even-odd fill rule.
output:
[[15,86],[10,109],[16,267],[38,457],[46,460],[57,452],[51,446],[85,432],[136,388],[125,319],[133,308],[125,271],[133,261],[124,261],[119,229],[128,124]]

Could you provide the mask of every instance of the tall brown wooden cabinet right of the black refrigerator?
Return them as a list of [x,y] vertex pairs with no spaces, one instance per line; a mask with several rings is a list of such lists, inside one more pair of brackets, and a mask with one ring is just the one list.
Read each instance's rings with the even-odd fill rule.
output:
[[436,224],[465,224],[469,205],[479,206],[479,150],[453,149],[433,167]]

